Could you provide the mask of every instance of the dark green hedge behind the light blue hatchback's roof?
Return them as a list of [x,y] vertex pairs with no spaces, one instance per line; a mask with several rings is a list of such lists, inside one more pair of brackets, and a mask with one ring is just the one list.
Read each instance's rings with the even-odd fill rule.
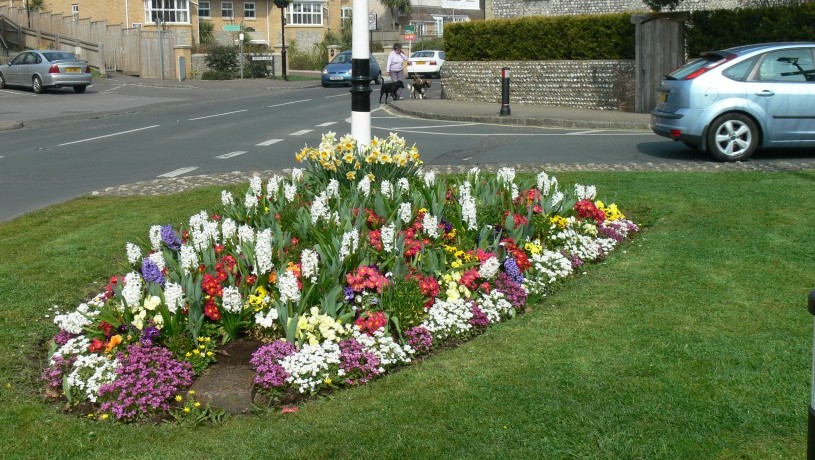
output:
[[688,55],[751,43],[815,41],[815,3],[695,11],[685,25]]

